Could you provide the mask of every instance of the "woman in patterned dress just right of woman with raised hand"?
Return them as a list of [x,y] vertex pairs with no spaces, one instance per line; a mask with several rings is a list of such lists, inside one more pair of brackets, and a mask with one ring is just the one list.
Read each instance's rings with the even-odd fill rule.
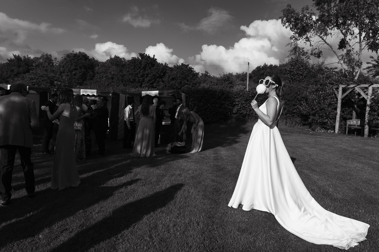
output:
[[85,145],[85,130],[83,119],[88,117],[89,114],[83,113],[83,96],[76,94],[74,96],[74,105],[78,111],[77,118],[75,120],[75,160],[86,159],[86,145]]

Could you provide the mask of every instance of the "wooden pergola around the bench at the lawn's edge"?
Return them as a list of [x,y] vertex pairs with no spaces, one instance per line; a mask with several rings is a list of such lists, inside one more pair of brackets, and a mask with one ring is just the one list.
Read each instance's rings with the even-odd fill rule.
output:
[[[365,98],[367,100],[366,102],[366,115],[365,115],[365,133],[364,137],[366,138],[368,136],[368,112],[370,111],[370,104],[371,104],[371,95],[373,93],[373,88],[379,88],[379,84],[359,84],[355,82],[354,84],[349,84],[345,82],[346,84],[343,85],[330,85],[331,88],[334,88],[334,92],[337,95],[338,103],[337,103],[337,117],[335,119],[335,130],[334,133],[338,133],[338,128],[340,126],[340,114],[341,114],[341,100],[343,97],[345,97],[348,93],[350,93],[352,90],[358,91],[360,94],[360,97],[357,97],[357,99]],[[337,89],[338,88],[338,92]],[[348,88],[348,90],[343,93],[342,88]],[[352,119],[356,119],[356,112],[353,110]]]

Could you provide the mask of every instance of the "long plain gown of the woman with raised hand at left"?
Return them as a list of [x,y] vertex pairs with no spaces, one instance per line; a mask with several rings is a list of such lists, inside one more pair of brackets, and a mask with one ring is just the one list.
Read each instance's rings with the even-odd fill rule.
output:
[[74,116],[61,113],[56,136],[55,155],[51,174],[51,188],[63,190],[67,187],[77,187],[80,178],[75,161],[75,130]]

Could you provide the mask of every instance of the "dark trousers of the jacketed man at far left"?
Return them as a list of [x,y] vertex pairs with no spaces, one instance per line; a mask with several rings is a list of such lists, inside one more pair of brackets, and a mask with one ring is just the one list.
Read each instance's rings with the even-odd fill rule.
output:
[[34,170],[31,162],[31,148],[17,145],[0,146],[0,195],[3,201],[11,198],[11,183],[14,158],[16,150],[19,150],[21,166],[25,177],[25,188],[27,193],[34,193]]

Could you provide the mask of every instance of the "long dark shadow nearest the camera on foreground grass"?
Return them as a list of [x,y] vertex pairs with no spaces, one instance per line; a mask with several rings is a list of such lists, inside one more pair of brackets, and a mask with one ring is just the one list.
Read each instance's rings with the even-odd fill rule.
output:
[[[51,251],[67,251],[67,248],[70,251],[87,251],[128,229],[144,216],[166,206],[183,186],[183,184],[176,184],[146,198],[127,203],[114,210],[109,217],[81,230],[70,240]],[[83,241],[92,241],[92,243],[83,243]]]

